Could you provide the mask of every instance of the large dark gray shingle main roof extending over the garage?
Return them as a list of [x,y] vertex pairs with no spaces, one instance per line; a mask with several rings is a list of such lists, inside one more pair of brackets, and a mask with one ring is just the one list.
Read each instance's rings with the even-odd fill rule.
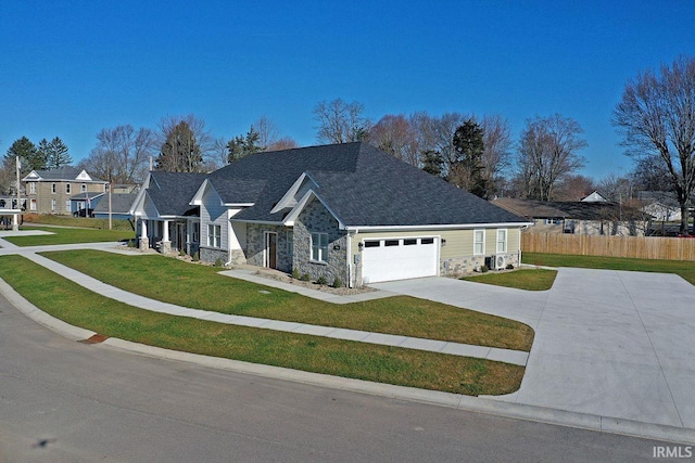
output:
[[[258,153],[210,179],[223,197],[232,194],[235,179],[255,180],[256,187],[263,181],[263,189],[244,196],[253,197],[255,205],[235,219],[281,221],[288,210],[270,210],[303,172],[319,183],[318,195],[348,227],[525,222],[366,143]],[[218,179],[225,179],[224,189]]]

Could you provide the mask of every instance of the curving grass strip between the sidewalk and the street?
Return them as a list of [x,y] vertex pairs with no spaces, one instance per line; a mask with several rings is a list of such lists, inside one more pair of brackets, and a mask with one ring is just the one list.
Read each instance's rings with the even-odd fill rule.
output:
[[508,363],[150,312],[85,290],[21,256],[0,257],[0,278],[70,324],[167,349],[472,396],[513,393],[523,376],[522,366]]

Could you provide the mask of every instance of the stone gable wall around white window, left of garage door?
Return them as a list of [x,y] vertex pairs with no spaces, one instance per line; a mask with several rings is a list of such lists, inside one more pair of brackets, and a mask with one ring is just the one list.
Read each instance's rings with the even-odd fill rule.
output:
[[[324,262],[312,260],[312,233],[328,234],[328,257]],[[319,201],[307,204],[294,221],[292,268],[301,274],[308,273],[314,281],[324,276],[328,284],[332,284],[339,278],[343,284],[348,284],[346,248],[348,233],[338,228],[336,218]]]

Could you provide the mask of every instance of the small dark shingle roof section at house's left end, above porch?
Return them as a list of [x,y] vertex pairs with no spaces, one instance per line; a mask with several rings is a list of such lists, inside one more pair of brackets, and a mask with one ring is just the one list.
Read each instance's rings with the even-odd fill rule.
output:
[[152,171],[148,195],[162,216],[188,216],[192,214],[189,203],[205,173]]

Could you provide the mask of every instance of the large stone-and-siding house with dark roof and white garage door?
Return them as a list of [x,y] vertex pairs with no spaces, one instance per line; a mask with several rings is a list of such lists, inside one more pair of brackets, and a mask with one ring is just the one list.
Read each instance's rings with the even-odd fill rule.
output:
[[[144,223],[141,242],[329,283],[517,266],[530,224],[366,143],[258,153],[189,176],[150,173],[131,209]],[[164,246],[185,226],[185,246]]]

